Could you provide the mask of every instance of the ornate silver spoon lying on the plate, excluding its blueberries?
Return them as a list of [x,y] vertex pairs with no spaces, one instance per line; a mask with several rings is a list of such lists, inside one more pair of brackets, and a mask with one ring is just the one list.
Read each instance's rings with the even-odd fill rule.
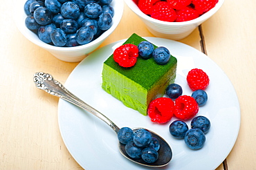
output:
[[[35,73],[34,75],[34,83],[37,88],[46,91],[47,93],[50,93],[51,95],[55,95],[57,97],[62,98],[63,100],[66,100],[67,102],[71,102],[72,104],[75,104],[76,106],[79,106],[80,108],[84,108],[84,110],[88,111],[89,113],[92,113],[93,115],[97,116],[104,122],[106,122],[111,128],[118,134],[119,128],[114,124],[111,120],[109,120],[108,117],[97,111],[95,108],[89,106],[82,100],[80,100],[78,97],[73,95],[70,91],[68,91],[60,82],[53,79],[53,76],[48,73]],[[136,131],[137,129],[141,128],[134,128],[133,131]],[[149,131],[149,130],[148,130]],[[131,160],[132,162],[136,162],[138,164],[147,166],[147,167],[163,167],[167,165],[170,160],[172,159],[172,149],[170,148],[169,144],[163,138],[161,138],[156,133],[150,131],[152,133],[152,136],[154,138],[157,138],[160,142],[160,149],[158,150],[158,160],[154,163],[147,163],[143,159],[133,159],[130,158],[129,155],[127,155],[125,151],[125,144],[121,144],[119,142],[119,150],[122,155],[124,155],[127,159]]]

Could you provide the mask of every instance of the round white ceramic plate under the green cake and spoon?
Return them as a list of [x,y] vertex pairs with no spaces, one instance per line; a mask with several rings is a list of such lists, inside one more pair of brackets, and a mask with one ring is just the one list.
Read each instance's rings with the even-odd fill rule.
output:
[[[198,115],[211,121],[203,149],[193,151],[183,140],[172,138],[169,125],[154,124],[148,116],[124,106],[102,90],[102,64],[125,40],[104,46],[86,57],[64,84],[69,91],[109,117],[119,127],[145,127],[161,135],[172,147],[173,158],[162,169],[216,169],[228,156],[239,133],[240,109],[235,90],[223,70],[212,60],[190,46],[156,37],[145,39],[169,48],[178,59],[176,83],[183,87],[183,95],[191,95],[185,76],[192,68],[203,69],[210,77],[206,89],[208,102],[199,108]],[[57,78],[57,77],[56,77]],[[149,169],[124,158],[118,150],[116,133],[102,120],[64,100],[59,102],[60,132],[68,151],[86,170],[91,169]],[[190,120],[187,121],[190,124]]]

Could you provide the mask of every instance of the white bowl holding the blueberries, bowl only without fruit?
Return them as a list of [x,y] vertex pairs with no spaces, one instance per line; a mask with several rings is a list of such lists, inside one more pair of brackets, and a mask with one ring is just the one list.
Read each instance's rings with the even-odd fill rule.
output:
[[82,46],[75,46],[75,47],[57,47],[52,46],[49,44],[44,43],[41,41],[35,33],[33,33],[31,30],[28,30],[25,26],[25,19],[26,14],[24,12],[24,3],[26,0],[17,0],[15,1],[15,12],[16,14],[14,16],[15,22],[17,27],[19,28],[20,32],[31,42],[36,44],[37,46],[40,46],[44,48],[45,50],[48,50],[52,55],[57,57],[58,59],[61,59],[64,62],[80,62],[86,55],[91,53],[95,48],[98,48],[100,44],[111,35],[113,30],[116,29],[118,26],[118,23],[120,23],[120,20],[122,18],[122,12],[124,8],[124,3],[121,0],[113,0],[111,2],[111,6],[114,8],[114,16],[113,16],[113,25],[109,30],[105,31],[100,37],[97,39],[91,41],[89,44],[84,44]]

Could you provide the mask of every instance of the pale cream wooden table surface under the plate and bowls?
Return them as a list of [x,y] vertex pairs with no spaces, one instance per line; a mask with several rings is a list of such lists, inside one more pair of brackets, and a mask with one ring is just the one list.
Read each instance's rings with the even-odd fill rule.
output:
[[[255,9],[256,1],[226,0],[213,17],[180,40],[203,50],[228,75],[237,92],[240,131],[218,170],[256,167]],[[39,91],[33,83],[33,74],[44,71],[64,84],[78,63],[62,62],[21,35],[12,20],[10,1],[1,2],[0,11],[0,169],[82,169],[60,135],[58,98]],[[118,28],[100,47],[134,32],[154,37],[125,5]]]

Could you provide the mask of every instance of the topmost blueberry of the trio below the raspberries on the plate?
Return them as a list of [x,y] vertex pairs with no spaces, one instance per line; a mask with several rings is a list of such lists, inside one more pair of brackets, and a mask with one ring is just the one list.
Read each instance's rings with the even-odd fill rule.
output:
[[208,133],[210,129],[210,120],[203,115],[196,116],[191,121],[191,128],[198,128],[203,131],[203,133]]

